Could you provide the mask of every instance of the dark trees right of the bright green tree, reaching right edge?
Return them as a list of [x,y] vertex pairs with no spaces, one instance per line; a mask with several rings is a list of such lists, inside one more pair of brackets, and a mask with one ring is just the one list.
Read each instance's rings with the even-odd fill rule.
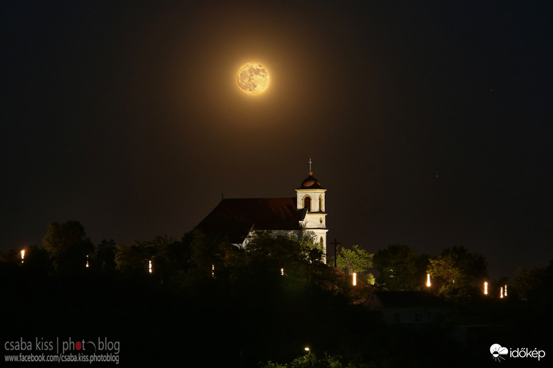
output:
[[[464,246],[444,249],[438,255],[417,254],[406,245],[389,245],[373,257],[379,273],[376,284],[391,291],[429,291],[453,302],[467,302],[482,296],[487,282],[487,298],[543,300],[553,294],[553,260],[545,268],[518,267],[512,279],[491,280],[485,257]],[[430,287],[427,287],[430,275]]]

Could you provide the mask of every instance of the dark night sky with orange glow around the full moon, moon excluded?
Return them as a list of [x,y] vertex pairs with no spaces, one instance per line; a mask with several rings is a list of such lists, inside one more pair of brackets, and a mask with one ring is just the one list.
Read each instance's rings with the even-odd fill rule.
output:
[[[293,197],[328,240],[553,258],[548,1],[2,1],[2,249],[79,220],[179,237],[225,197]],[[245,95],[249,61],[271,84]]]

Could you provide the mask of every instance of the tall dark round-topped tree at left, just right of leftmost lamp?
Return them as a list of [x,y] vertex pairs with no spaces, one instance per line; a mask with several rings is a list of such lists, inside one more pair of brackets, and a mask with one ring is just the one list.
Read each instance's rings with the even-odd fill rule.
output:
[[84,227],[78,221],[48,224],[42,246],[55,270],[70,273],[83,272],[86,269],[86,256],[94,251],[91,240],[86,238]]

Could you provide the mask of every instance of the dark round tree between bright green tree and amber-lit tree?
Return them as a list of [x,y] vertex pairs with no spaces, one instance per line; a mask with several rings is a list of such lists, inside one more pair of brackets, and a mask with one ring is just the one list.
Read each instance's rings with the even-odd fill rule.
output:
[[428,264],[427,255],[417,255],[406,245],[388,245],[377,251],[374,257],[375,269],[379,272],[377,282],[391,291],[418,289]]

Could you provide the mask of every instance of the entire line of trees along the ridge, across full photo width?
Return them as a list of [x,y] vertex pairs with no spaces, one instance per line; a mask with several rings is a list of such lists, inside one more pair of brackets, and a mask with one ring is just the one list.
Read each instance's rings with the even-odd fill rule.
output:
[[[158,236],[130,245],[102,240],[94,245],[80,222],[68,221],[49,224],[41,246],[26,247],[24,258],[20,252],[21,249],[12,249],[0,253],[0,265],[24,265],[48,275],[88,273],[144,279],[175,288],[194,287],[214,278],[236,282],[245,275],[265,278],[285,273],[289,279],[350,292],[346,284],[355,272],[360,282],[390,291],[429,291],[448,300],[463,300],[482,294],[487,282],[490,297],[500,297],[500,288],[507,286],[510,298],[535,300],[553,281],[553,260],[543,269],[519,267],[512,280],[505,277],[490,280],[484,256],[471,253],[464,246],[428,255],[418,254],[402,244],[389,245],[376,253],[354,245],[340,249],[338,269],[333,269],[321,264],[323,249],[309,233],[297,239],[272,238],[269,233],[260,232],[248,245],[247,252],[225,238],[197,230],[185,233],[182,238]],[[427,275],[431,280],[429,287]]]

